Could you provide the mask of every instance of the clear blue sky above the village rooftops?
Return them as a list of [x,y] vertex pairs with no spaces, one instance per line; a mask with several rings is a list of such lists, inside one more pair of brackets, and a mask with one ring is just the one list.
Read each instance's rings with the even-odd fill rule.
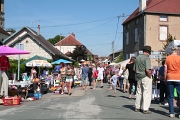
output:
[[117,16],[130,15],[138,5],[139,0],[5,0],[5,29],[40,25],[46,39],[73,32],[93,54],[108,56],[113,40],[115,51],[122,49],[123,18],[118,24]]

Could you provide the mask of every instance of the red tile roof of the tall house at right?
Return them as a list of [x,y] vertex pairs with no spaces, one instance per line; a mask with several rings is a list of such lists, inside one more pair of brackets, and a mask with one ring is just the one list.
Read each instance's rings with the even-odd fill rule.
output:
[[[180,15],[180,0],[148,0],[144,13],[162,13]],[[139,7],[123,22],[129,22],[139,14]]]

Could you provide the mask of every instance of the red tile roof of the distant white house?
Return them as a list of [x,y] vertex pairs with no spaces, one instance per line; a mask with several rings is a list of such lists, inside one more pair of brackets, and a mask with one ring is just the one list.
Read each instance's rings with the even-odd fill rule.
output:
[[65,37],[61,41],[57,42],[55,44],[56,46],[77,46],[77,45],[83,45],[80,43],[76,38],[75,35],[72,33],[69,36]]

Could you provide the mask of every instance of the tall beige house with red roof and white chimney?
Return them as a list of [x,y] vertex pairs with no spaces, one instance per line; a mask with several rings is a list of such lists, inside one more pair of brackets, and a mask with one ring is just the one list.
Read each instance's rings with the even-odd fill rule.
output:
[[139,7],[123,22],[123,57],[152,47],[151,62],[158,65],[163,43],[171,34],[180,39],[180,0],[139,0]]

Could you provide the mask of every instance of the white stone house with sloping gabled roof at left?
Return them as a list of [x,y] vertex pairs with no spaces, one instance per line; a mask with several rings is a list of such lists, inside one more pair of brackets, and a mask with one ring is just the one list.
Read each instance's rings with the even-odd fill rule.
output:
[[[69,60],[66,55],[54,48],[54,46],[40,34],[40,25],[38,25],[38,32],[29,27],[23,27],[6,38],[3,43],[7,46],[30,52],[30,54],[22,55],[21,59],[29,59],[35,55],[39,55],[53,60],[60,58]],[[11,59],[17,59],[15,55],[9,57]]]

